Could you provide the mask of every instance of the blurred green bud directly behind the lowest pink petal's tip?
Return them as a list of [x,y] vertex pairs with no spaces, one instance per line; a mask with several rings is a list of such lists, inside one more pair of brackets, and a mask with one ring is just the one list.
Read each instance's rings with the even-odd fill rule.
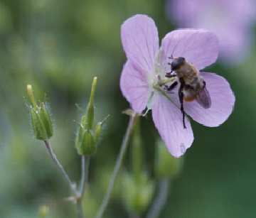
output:
[[176,178],[183,167],[183,158],[174,158],[164,143],[156,144],[155,173],[158,178]]

